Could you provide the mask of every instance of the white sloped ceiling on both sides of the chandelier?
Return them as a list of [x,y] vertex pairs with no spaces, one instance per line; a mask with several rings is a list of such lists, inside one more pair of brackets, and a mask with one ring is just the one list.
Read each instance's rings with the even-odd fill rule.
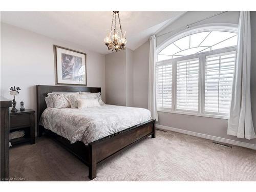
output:
[[[132,50],[147,41],[182,11],[120,11],[127,48]],[[101,54],[110,51],[104,45],[106,30],[111,28],[112,11],[6,11],[1,22],[24,28],[57,40],[68,41]],[[119,26],[118,26],[119,27]]]

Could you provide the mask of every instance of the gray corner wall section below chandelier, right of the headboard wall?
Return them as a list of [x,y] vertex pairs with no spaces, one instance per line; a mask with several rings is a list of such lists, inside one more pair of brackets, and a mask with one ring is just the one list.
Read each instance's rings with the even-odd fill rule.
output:
[[133,106],[133,51],[105,55],[106,103]]

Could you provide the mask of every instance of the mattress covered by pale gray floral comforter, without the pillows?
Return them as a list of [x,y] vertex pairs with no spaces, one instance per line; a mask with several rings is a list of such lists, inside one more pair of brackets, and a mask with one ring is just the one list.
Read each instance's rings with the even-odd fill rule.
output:
[[87,145],[150,119],[146,109],[106,104],[88,109],[47,108],[39,124],[71,143]]

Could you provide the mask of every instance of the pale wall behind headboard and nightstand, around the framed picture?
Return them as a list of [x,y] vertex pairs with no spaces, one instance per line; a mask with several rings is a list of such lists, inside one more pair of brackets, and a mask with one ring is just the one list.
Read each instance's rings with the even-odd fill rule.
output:
[[10,87],[20,87],[16,108],[24,101],[25,108],[36,110],[35,86],[55,84],[53,45],[87,53],[88,87],[101,87],[105,101],[104,55],[4,23],[1,23],[1,95],[13,99]]

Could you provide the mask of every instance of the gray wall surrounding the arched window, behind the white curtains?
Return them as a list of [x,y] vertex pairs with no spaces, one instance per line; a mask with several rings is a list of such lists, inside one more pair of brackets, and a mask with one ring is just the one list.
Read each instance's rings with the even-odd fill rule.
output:
[[[175,31],[176,28],[193,23],[199,19],[214,15],[217,12],[187,12],[182,17],[176,20],[173,24],[160,31],[159,34],[164,34],[168,31]],[[232,23],[238,24],[239,12],[228,12],[217,17],[208,19],[199,24],[206,23]],[[197,25],[199,25],[197,24]],[[252,115],[253,122],[256,126],[256,12],[251,12],[251,39],[252,39],[252,50],[251,50],[251,100],[252,100]],[[194,25],[195,26],[195,25]],[[172,36],[177,33],[176,30],[173,33],[167,34],[164,38]],[[157,45],[163,41],[163,36],[157,38]],[[134,51],[134,106],[147,108],[147,90],[148,90],[148,52],[150,49],[149,42],[146,42],[138,49]],[[234,136],[227,135],[227,123],[226,119],[181,115],[174,113],[158,112],[159,122],[158,124],[175,127],[187,131],[247,142],[256,144],[256,139],[247,140],[239,139]]]

